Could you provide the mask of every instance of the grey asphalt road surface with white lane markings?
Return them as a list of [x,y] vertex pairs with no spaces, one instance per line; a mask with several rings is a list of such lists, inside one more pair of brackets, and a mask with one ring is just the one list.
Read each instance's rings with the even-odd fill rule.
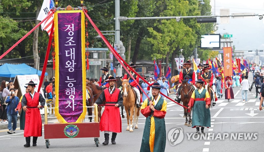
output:
[[[249,80],[252,82],[252,74],[250,74]],[[210,109],[211,127],[205,128],[206,134],[202,139],[196,139],[197,135],[191,135],[191,133],[196,132],[195,128],[184,126],[183,108],[167,100],[167,114],[165,117],[167,141],[165,151],[262,151],[264,140],[262,120],[264,113],[258,110],[260,101],[255,98],[256,92],[255,88],[253,88],[252,92],[249,92],[248,103],[242,103],[241,89],[241,86],[233,88],[235,99],[228,102],[223,96],[216,102],[216,106]],[[169,97],[174,99],[175,95],[172,94]],[[56,120],[51,122],[56,122]],[[117,144],[105,146],[99,144],[99,147],[96,147],[93,138],[66,138],[50,139],[51,145],[47,149],[44,136],[42,136],[38,138],[36,147],[24,148],[25,137],[23,137],[23,130],[18,128],[16,133],[9,135],[7,134],[8,130],[3,129],[0,130],[1,149],[4,151],[139,151],[144,123],[145,118],[140,114],[139,129],[129,132],[126,131],[126,118],[122,119],[122,133],[117,134]],[[179,139],[176,138],[176,140],[180,143],[172,146],[168,140],[168,133],[171,129],[178,127],[183,130],[183,140],[180,142],[180,137],[177,136]],[[45,132],[48,131],[43,130],[43,135]],[[228,137],[223,139],[223,135],[225,137],[228,135]],[[232,135],[236,135],[236,139],[230,139]],[[247,135],[252,136],[251,140],[244,139]],[[189,139],[188,136],[190,136]],[[101,143],[104,141],[103,132],[100,133],[99,140]]]

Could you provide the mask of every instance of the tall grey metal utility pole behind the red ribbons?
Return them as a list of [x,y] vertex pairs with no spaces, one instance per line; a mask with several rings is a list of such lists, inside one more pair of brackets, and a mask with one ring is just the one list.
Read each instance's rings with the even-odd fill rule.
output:
[[[118,19],[120,16],[120,0],[115,0],[115,18]],[[115,45],[116,52],[120,54],[120,21],[115,20]],[[122,75],[122,67],[120,64],[116,67],[116,76],[121,77]]]

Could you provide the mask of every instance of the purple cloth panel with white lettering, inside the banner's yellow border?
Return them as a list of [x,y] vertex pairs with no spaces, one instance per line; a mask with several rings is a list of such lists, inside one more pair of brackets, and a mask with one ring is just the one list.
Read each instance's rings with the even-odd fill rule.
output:
[[[70,123],[83,112],[81,13],[58,13],[59,114]],[[56,52],[57,53],[57,52]]]

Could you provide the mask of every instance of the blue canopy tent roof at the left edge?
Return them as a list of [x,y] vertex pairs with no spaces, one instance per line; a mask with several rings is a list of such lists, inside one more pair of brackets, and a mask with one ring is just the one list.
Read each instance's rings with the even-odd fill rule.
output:
[[[30,75],[30,74],[37,74],[41,75],[42,71],[37,70],[35,68],[32,68],[29,65],[23,64],[4,64],[0,66],[0,77],[8,77],[13,78],[16,77],[16,75]],[[47,72],[45,72],[45,75],[48,75]]]

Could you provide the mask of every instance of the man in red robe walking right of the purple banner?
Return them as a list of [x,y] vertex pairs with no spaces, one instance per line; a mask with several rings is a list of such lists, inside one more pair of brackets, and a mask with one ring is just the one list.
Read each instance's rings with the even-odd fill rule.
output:
[[[105,106],[105,110],[103,111],[100,120],[100,130],[105,131],[105,141],[103,142],[103,145],[108,145],[109,143],[109,131],[112,132],[112,144],[116,144],[116,135],[122,131],[119,107],[123,103],[123,97],[121,91],[116,88],[116,79],[114,77],[111,76],[106,82],[109,83],[109,88],[103,90],[101,95],[95,101],[95,104],[97,105],[101,105],[103,101],[105,101],[106,105],[112,105]],[[95,106],[95,104],[93,106]]]

